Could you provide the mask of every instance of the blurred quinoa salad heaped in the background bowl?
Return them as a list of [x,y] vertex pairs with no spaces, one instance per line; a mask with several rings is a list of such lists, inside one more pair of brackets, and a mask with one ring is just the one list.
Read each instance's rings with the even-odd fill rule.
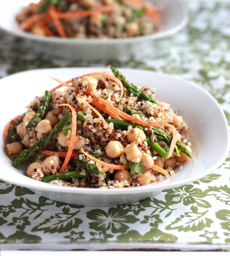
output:
[[145,0],[41,0],[16,15],[21,30],[61,38],[127,38],[159,30],[163,6]]

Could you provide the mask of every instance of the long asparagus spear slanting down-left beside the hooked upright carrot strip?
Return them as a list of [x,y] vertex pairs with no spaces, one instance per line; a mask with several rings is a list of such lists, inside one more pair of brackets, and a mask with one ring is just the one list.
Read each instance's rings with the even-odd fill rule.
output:
[[20,153],[20,155],[18,155],[18,157],[15,159],[12,166],[18,167],[19,165],[33,158],[37,154],[37,152],[41,151],[43,147],[46,146],[46,144],[48,144],[48,142],[51,139],[53,139],[53,137],[59,132],[59,130],[61,130],[61,128],[68,122],[70,117],[71,117],[71,112],[67,112],[59,121],[59,123],[53,127],[53,129],[47,136],[41,137],[38,140],[38,143],[31,146],[29,149],[23,150]]

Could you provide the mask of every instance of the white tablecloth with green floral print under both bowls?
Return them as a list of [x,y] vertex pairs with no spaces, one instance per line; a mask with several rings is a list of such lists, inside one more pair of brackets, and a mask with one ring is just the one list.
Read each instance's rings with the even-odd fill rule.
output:
[[[173,1],[173,0],[172,0]],[[230,4],[187,0],[189,22],[151,42],[125,68],[176,74],[210,92],[230,122]],[[0,76],[27,69],[106,66],[54,58],[0,34]],[[211,139],[211,138],[210,138]],[[0,250],[230,250],[230,157],[200,180],[137,203],[89,207],[59,203],[0,180]]]

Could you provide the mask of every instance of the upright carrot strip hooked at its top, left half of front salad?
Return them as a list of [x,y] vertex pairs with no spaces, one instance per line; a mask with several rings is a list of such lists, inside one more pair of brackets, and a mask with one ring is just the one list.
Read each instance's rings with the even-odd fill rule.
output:
[[59,107],[64,107],[64,106],[69,107],[72,112],[72,129],[71,129],[69,148],[67,150],[66,158],[64,160],[64,163],[62,164],[61,170],[59,171],[60,173],[64,172],[64,170],[66,169],[66,166],[69,163],[69,159],[71,158],[72,152],[74,150],[74,142],[76,139],[76,130],[77,130],[77,114],[75,109],[71,105],[66,103],[59,104]]

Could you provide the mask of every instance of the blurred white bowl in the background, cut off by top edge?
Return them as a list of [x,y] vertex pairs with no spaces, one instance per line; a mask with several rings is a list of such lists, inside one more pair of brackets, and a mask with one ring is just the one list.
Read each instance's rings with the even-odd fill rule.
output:
[[[7,0],[0,8],[0,28],[15,35],[32,40],[37,43],[36,48],[41,48],[51,55],[71,57],[77,59],[127,59],[135,55],[144,43],[156,38],[163,38],[181,30],[188,21],[188,14],[180,0],[150,0],[165,6],[161,12],[162,26],[159,31],[151,35],[132,38],[101,39],[76,39],[36,36],[21,31],[15,21],[15,16],[31,0]],[[34,1],[36,2],[36,1]],[[45,46],[45,47],[44,47]]]

